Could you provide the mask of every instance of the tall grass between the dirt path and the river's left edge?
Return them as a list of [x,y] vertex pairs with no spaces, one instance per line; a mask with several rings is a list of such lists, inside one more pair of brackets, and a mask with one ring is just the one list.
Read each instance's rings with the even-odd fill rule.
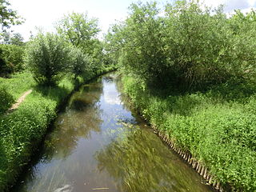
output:
[[29,161],[32,150],[46,134],[50,120],[55,117],[56,102],[39,95],[29,95],[18,110],[0,117],[0,148],[3,153],[0,158],[0,190],[4,190],[7,183],[14,182],[24,162]]

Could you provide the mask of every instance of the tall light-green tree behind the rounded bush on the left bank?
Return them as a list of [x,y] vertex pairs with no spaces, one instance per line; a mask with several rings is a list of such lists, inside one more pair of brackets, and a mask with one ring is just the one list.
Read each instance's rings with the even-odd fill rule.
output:
[[89,18],[87,14],[72,13],[57,22],[56,29],[58,34],[90,58],[94,70],[102,67],[104,59],[102,42],[96,38],[100,31],[98,19]]

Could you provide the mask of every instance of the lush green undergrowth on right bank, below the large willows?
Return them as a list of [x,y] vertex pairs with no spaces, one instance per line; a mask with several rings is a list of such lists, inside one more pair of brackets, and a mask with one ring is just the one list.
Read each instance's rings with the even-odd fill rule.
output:
[[220,182],[238,191],[256,191],[253,88],[220,85],[205,93],[174,94],[147,90],[135,78],[122,82],[143,117],[190,151]]

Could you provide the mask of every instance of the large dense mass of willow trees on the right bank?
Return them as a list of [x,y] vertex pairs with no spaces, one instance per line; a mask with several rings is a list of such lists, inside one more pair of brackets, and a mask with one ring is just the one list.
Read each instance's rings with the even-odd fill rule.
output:
[[227,17],[196,1],[130,6],[125,22],[112,26],[107,49],[115,62],[146,85],[205,90],[229,81],[254,81],[254,10]]

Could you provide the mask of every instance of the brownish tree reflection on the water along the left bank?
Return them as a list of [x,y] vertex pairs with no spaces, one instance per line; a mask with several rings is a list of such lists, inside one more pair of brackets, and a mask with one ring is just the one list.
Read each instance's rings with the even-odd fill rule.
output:
[[98,104],[101,94],[102,84],[92,83],[72,95],[65,113],[58,114],[54,131],[46,138],[43,153],[45,161],[66,158],[81,138],[91,138],[91,131],[101,131],[102,119]]

